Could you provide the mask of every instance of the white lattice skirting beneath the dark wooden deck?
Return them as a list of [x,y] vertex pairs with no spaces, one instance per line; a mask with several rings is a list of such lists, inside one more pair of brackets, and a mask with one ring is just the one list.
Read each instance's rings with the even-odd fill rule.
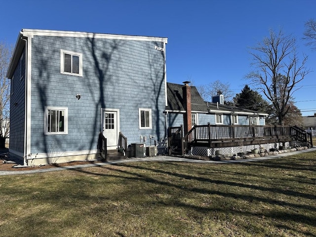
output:
[[[290,142],[285,142],[285,147],[289,147]],[[222,154],[232,154],[237,155],[237,153],[240,152],[251,152],[253,149],[259,149],[259,150],[267,150],[270,149],[279,149],[279,147],[282,146],[282,143],[268,143],[268,144],[260,144],[260,145],[248,145],[248,146],[238,146],[238,147],[221,147],[221,148],[209,148],[209,147],[192,147],[192,150],[189,151],[189,154],[194,156],[203,156],[203,157],[209,157],[214,156],[216,151],[220,150],[222,151]]]

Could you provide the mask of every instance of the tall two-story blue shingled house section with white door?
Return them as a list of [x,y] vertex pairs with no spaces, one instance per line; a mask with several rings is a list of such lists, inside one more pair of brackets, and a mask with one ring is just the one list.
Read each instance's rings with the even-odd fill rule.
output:
[[[10,147],[26,165],[95,160],[165,137],[167,38],[23,29],[7,72]],[[149,139],[147,139],[149,140]],[[146,141],[148,142],[148,141]]]

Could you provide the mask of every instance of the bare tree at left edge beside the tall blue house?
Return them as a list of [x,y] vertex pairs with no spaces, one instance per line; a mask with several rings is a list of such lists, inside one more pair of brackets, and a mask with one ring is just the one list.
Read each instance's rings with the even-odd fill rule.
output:
[[0,41],[0,148],[5,147],[9,135],[10,117],[10,80],[6,72],[10,63],[12,47]]

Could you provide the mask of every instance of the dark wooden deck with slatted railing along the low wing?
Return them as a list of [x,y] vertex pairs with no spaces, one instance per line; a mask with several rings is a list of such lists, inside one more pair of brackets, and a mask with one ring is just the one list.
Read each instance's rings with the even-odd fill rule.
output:
[[195,125],[187,134],[183,126],[170,127],[169,155],[184,155],[192,146],[209,148],[305,142],[313,146],[312,134],[296,126]]

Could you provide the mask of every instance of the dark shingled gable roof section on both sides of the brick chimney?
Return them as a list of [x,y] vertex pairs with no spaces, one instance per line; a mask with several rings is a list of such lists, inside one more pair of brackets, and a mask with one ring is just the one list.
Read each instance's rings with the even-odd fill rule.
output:
[[[183,107],[183,93],[181,84],[169,83],[167,82],[167,100],[168,106],[166,106],[166,111],[184,113],[185,109]],[[207,113],[207,106],[199,95],[197,87],[191,86],[191,110],[193,112]]]

